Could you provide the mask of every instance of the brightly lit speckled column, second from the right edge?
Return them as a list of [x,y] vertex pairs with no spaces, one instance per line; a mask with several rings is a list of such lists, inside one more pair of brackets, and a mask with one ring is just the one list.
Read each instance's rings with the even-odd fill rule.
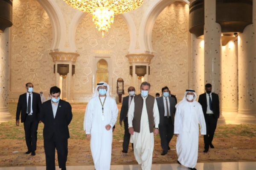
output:
[[222,46],[221,56],[221,110],[227,123],[238,114],[238,41]]

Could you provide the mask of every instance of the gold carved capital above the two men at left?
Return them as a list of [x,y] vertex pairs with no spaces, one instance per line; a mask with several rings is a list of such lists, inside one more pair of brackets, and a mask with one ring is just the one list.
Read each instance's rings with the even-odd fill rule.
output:
[[50,52],[49,55],[52,57],[52,61],[74,61],[80,55],[74,52]]

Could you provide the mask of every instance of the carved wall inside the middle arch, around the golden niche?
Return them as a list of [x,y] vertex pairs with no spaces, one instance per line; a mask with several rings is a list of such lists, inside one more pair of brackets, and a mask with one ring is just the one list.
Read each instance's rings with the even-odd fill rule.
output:
[[[123,78],[125,89],[131,85],[129,63],[125,55],[130,44],[129,30],[120,16],[115,16],[111,29],[104,34],[95,28],[92,15],[87,14],[76,30],[76,47],[80,56],[76,61],[76,74],[73,76],[73,91],[91,94],[96,81],[94,57],[111,57],[112,92],[116,93],[116,80]],[[77,97],[77,96],[76,96]]]

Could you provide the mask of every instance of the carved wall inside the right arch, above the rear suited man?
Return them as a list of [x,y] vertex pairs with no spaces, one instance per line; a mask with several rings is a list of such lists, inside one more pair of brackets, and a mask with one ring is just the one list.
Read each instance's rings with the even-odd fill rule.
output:
[[175,2],[167,6],[154,23],[155,56],[148,76],[153,85],[151,92],[161,92],[163,86],[168,86],[172,94],[183,94],[188,88],[188,15],[189,6]]

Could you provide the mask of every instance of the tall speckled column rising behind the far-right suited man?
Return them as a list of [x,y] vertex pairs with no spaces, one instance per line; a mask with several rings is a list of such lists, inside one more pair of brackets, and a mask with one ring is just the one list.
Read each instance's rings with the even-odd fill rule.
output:
[[[212,84],[221,99],[221,26],[215,22],[215,9],[215,0],[204,1],[204,83]],[[221,112],[218,124],[225,124]]]

